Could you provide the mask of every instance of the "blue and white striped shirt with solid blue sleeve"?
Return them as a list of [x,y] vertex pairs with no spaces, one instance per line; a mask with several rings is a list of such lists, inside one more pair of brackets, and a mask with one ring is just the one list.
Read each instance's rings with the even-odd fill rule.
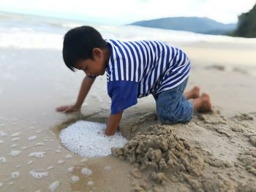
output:
[[189,76],[189,58],[176,47],[157,41],[106,42],[110,47],[106,73],[111,114],[137,104],[138,98],[175,88]]

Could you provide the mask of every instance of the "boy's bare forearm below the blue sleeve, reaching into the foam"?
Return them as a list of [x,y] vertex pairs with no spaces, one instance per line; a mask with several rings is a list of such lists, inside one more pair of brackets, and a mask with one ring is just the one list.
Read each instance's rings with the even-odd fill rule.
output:
[[110,135],[115,134],[116,129],[118,128],[118,125],[120,123],[122,115],[123,115],[123,112],[119,112],[117,114],[110,115],[110,117],[108,118],[107,128],[105,130],[106,135],[110,136]]

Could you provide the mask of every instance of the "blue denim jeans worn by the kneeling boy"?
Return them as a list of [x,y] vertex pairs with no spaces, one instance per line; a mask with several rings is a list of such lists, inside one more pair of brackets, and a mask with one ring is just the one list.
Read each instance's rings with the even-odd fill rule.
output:
[[[187,78],[188,80],[188,78]],[[157,104],[157,116],[162,123],[187,123],[193,116],[193,104],[183,94],[187,80],[176,88],[154,95]]]

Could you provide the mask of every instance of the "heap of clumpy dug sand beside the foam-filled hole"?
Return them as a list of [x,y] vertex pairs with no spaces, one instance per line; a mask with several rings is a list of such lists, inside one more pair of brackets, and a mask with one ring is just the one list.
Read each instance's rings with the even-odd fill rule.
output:
[[196,176],[203,169],[203,159],[184,139],[175,137],[165,126],[151,126],[148,134],[139,134],[124,147],[113,147],[111,151],[114,156],[127,159],[140,169],[172,169]]

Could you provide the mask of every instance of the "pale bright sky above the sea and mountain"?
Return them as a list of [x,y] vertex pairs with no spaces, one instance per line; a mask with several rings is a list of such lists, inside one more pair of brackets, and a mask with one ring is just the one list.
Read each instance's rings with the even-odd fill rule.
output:
[[236,23],[255,0],[0,0],[0,11],[124,25],[167,17],[207,17]]

